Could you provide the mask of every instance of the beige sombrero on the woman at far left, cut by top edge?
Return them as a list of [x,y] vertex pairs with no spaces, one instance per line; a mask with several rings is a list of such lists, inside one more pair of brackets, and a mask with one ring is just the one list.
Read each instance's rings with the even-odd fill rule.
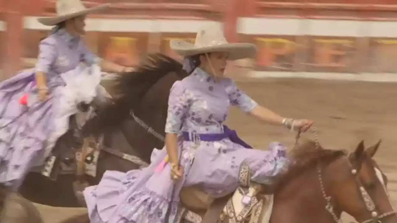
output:
[[57,16],[38,18],[37,21],[43,25],[56,25],[60,22],[66,21],[80,15],[87,15],[89,13],[98,12],[109,8],[110,4],[104,4],[97,7],[85,8],[80,0],[57,0],[56,13]]

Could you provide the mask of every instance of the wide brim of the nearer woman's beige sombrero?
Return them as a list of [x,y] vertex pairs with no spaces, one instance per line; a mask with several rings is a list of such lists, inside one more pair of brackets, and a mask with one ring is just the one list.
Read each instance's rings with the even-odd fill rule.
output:
[[227,43],[197,48],[194,44],[184,40],[171,40],[170,47],[183,57],[210,52],[227,52],[228,60],[239,60],[253,58],[256,54],[256,46],[251,43]]

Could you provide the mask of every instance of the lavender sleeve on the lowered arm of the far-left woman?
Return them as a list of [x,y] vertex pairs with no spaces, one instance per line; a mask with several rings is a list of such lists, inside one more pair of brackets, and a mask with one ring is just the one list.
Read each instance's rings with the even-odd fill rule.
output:
[[36,71],[48,73],[50,66],[56,59],[56,42],[54,39],[48,37],[40,42],[39,57],[35,66]]

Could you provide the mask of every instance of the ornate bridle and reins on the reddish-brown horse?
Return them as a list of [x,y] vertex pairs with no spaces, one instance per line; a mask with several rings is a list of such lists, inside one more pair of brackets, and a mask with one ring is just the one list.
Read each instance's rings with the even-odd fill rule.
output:
[[[312,127],[313,133],[314,133],[314,142],[316,143],[316,149],[320,149],[320,143],[318,142],[318,131],[316,130],[315,127]],[[298,131],[297,136],[296,136],[296,141],[295,145],[297,144],[297,141],[299,140],[301,131]],[[355,177],[356,185],[357,185],[357,190],[359,191],[359,194],[361,194],[361,198],[365,204],[366,209],[371,213],[371,218],[363,221],[362,223],[382,223],[381,219],[384,219],[385,217],[388,217],[390,215],[395,215],[397,212],[396,211],[389,211],[386,213],[379,214],[379,211],[376,210],[376,205],[373,202],[372,198],[366,191],[364,185],[362,184],[360,178],[358,177],[357,174],[357,169],[353,167],[353,165],[350,163],[349,159],[347,159],[347,162],[349,163],[349,167],[351,168],[351,174]],[[322,192],[323,198],[326,200],[326,207],[325,209],[330,213],[332,216],[333,220],[336,223],[342,223],[341,217],[338,217],[337,214],[335,213],[335,209],[332,206],[331,203],[331,196],[328,196],[326,193],[326,190],[324,188],[324,183],[323,183],[323,177],[322,177],[322,169],[321,169],[321,163],[318,162],[317,165],[318,168],[318,181],[320,182],[320,189]],[[385,192],[387,194],[387,197],[390,200],[389,193],[387,192],[387,189],[385,189]]]

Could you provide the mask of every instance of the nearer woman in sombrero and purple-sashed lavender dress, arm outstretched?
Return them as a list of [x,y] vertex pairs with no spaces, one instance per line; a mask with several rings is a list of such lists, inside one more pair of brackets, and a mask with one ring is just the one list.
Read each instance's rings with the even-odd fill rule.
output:
[[253,44],[229,44],[222,31],[212,27],[198,32],[194,45],[173,40],[171,48],[185,57],[184,68],[191,75],[172,86],[166,146],[154,151],[145,169],[107,171],[98,185],[85,189],[91,223],[179,222],[182,186],[198,185],[215,198],[224,196],[238,187],[243,162],[251,167],[252,181],[270,183],[287,163],[285,147],[273,143],[267,151],[249,149],[223,125],[230,105],[289,129],[306,131],[312,125],[259,106],[223,77],[226,60],[254,56]]

